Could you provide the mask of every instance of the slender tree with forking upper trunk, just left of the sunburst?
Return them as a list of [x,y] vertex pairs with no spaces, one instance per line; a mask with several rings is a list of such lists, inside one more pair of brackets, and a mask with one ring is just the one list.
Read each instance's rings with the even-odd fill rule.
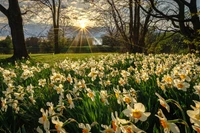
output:
[[59,48],[59,30],[60,30],[60,11],[62,0],[33,0],[40,2],[49,8],[52,14],[53,31],[54,31],[54,53],[60,53]]

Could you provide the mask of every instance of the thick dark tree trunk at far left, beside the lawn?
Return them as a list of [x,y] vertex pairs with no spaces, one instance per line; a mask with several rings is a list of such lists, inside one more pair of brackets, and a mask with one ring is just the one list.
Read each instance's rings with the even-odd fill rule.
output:
[[24,31],[22,25],[23,20],[18,0],[8,0],[8,3],[8,9],[0,4],[0,11],[7,17],[8,24],[10,26],[14,50],[12,58],[29,58],[25,45]]

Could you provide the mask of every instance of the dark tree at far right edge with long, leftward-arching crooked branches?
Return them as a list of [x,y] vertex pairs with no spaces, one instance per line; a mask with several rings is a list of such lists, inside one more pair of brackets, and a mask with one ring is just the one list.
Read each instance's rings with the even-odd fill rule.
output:
[[[190,52],[196,50],[195,44],[200,41],[200,17],[197,0],[148,0],[156,18],[170,21],[174,32],[179,32],[188,40]],[[165,6],[163,6],[165,5]],[[141,8],[147,12],[142,6]]]

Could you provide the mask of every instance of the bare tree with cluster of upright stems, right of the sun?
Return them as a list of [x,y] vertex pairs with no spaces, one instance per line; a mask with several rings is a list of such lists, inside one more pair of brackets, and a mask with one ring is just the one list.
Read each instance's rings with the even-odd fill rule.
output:
[[[129,52],[145,52],[145,36],[148,31],[151,16],[141,11],[139,4],[142,0],[106,0],[105,5],[101,7],[107,7],[101,10],[101,15],[112,17],[112,19],[106,19],[106,25],[108,26],[108,20],[110,20],[110,27],[115,25],[115,31],[113,28],[109,30],[116,32],[116,35],[120,37],[126,45],[126,49]],[[151,7],[147,7],[147,12],[151,12]],[[101,17],[103,18],[103,17]],[[110,33],[110,32],[109,32]]]

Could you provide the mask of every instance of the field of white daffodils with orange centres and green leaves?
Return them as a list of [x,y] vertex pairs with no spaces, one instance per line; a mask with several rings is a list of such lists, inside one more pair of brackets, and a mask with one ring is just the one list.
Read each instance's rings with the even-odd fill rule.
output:
[[194,54],[16,61],[0,67],[0,83],[0,132],[200,132]]

